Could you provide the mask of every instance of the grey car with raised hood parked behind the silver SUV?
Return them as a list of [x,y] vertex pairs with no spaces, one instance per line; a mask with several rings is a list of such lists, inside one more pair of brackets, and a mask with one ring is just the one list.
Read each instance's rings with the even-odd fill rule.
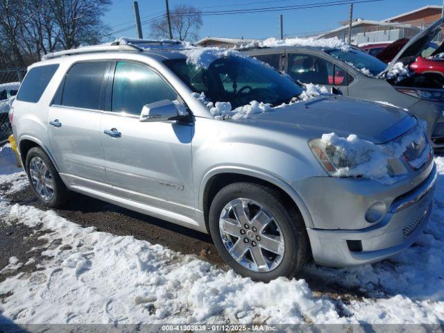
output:
[[[384,76],[396,62],[408,65],[443,24],[438,20],[413,37],[389,65],[356,48],[277,46],[244,49],[246,54],[285,71],[293,80],[335,87],[344,96],[406,108],[427,121],[434,148],[444,148],[444,77]],[[408,68],[405,68],[408,71]]]

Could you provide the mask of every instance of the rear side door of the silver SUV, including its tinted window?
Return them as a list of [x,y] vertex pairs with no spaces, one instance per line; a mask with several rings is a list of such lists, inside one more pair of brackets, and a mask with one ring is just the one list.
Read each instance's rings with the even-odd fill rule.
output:
[[106,182],[100,121],[111,62],[77,62],[65,75],[48,113],[49,138],[62,173],[77,185]]

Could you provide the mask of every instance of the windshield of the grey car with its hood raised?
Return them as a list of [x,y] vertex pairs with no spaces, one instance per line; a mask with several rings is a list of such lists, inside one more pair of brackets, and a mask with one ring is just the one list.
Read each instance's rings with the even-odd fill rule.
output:
[[347,62],[352,67],[355,67],[361,71],[363,71],[364,69],[368,69],[368,71],[370,71],[370,74],[372,74],[373,76],[377,76],[377,74],[384,71],[387,67],[387,65],[384,64],[384,62],[382,62],[381,60],[370,56],[369,54],[362,51],[350,50],[345,52],[334,49],[327,50],[325,52],[343,62]]

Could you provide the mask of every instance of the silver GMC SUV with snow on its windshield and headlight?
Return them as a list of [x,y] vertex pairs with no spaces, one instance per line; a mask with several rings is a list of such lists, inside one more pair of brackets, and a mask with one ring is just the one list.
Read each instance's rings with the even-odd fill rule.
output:
[[49,207],[76,191],[209,232],[234,271],[263,281],[311,255],[375,262],[425,228],[436,167],[411,114],[298,101],[301,87],[234,51],[151,46],[63,51],[28,69],[10,116]]

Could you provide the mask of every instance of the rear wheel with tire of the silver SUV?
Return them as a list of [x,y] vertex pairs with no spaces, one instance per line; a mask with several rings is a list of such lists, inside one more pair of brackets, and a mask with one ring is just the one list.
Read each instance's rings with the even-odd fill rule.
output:
[[26,173],[37,198],[48,207],[60,207],[68,198],[68,190],[56,167],[40,147],[26,155]]

